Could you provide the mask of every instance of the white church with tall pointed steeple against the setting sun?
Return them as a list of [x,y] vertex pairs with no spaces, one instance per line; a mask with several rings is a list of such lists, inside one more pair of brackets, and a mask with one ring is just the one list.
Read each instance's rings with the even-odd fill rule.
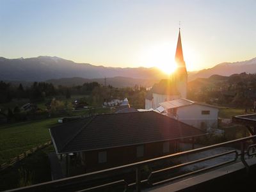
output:
[[175,63],[177,64],[177,69],[172,76],[169,79],[162,79],[159,83],[154,84],[152,89],[147,93],[145,109],[156,109],[159,107],[160,102],[187,97],[188,72],[183,58],[180,30],[175,53]]

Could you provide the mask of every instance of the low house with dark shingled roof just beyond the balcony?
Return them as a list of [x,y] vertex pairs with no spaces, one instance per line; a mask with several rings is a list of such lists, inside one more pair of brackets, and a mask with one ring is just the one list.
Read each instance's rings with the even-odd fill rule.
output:
[[66,176],[179,152],[179,143],[205,132],[154,111],[81,118],[50,129]]

